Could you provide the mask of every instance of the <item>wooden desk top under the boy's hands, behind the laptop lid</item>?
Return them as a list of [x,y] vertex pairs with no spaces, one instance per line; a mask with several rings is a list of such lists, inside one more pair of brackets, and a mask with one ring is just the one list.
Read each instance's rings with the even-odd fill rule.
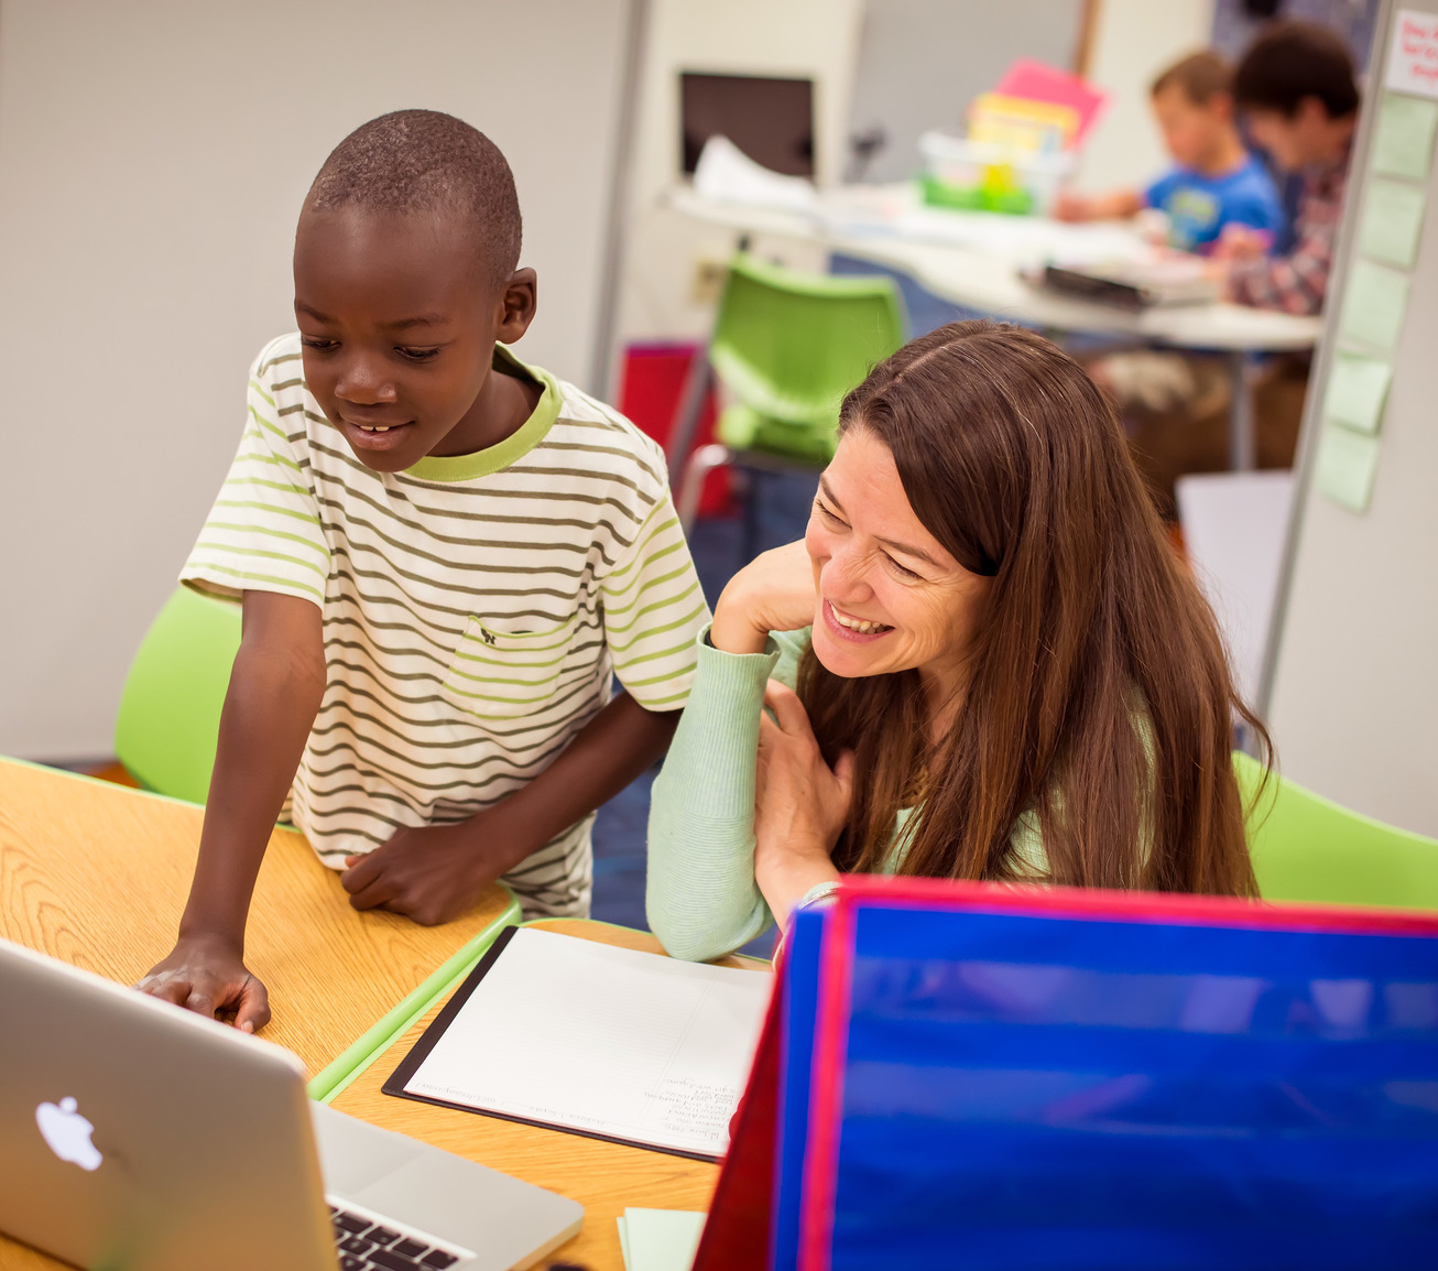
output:
[[[134,983],[174,946],[203,811],[0,761],[0,936]],[[509,903],[496,886],[443,927],[357,913],[303,837],[276,830],[244,947],[270,995],[260,1035],[313,1075]]]

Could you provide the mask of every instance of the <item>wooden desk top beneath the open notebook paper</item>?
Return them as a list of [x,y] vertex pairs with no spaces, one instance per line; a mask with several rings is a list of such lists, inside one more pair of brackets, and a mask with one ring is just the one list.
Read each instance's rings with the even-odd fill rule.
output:
[[[558,919],[535,926],[624,949],[663,952],[659,940],[647,932],[605,923]],[[749,958],[726,958],[719,965],[768,971],[766,962]],[[615,1219],[626,1206],[709,1208],[709,1198],[719,1178],[716,1165],[384,1094],[380,1087],[388,1080],[400,1057],[439,1014],[440,1006],[443,1002],[436,1004],[420,1024],[355,1078],[348,1090],[338,1094],[331,1107],[387,1130],[413,1134],[436,1147],[578,1201],[584,1205],[584,1228],[555,1251],[549,1261],[580,1262],[591,1271],[623,1271],[624,1257]]]

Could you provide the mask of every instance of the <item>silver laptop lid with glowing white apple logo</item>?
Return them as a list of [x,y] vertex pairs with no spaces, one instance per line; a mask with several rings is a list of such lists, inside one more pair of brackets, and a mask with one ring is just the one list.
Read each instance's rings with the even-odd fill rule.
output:
[[299,1060],[0,940],[0,1231],[82,1267],[334,1271]]

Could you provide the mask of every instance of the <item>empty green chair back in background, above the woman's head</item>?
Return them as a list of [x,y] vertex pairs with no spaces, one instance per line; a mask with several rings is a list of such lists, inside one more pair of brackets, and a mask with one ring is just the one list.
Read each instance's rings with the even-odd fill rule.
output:
[[827,462],[844,394],[902,344],[893,279],[798,273],[738,256],[709,345],[736,398],[719,439]]

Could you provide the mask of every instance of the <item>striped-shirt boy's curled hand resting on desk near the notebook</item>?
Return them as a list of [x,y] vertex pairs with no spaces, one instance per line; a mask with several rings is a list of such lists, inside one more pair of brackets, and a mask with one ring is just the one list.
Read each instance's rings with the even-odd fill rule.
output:
[[355,909],[403,913],[427,927],[459,917],[535,847],[516,847],[503,807],[498,804],[453,825],[397,830],[368,855],[345,857],[348,868],[339,881],[349,903]]

